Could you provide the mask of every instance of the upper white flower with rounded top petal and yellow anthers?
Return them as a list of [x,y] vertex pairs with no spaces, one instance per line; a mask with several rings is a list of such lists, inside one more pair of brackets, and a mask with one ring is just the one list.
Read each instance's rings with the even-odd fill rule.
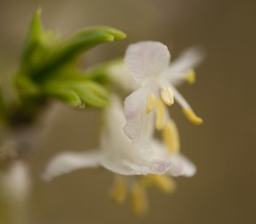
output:
[[[132,141],[145,140],[144,130],[148,123],[148,114],[155,111],[156,129],[164,129],[170,133],[172,126],[166,106],[177,101],[184,114],[193,123],[200,124],[189,103],[177,91],[174,85],[187,79],[189,83],[195,81],[195,67],[201,60],[202,54],[197,49],[189,49],[169,66],[171,55],[167,47],[159,42],[140,42],[131,44],[125,54],[125,64],[132,77],[141,84],[125,99],[125,134]],[[166,138],[167,140],[168,138]],[[168,144],[167,144],[168,145]]]

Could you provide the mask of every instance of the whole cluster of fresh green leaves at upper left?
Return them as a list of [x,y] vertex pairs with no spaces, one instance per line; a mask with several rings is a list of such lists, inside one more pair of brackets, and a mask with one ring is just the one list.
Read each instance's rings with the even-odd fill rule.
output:
[[[68,106],[107,106],[108,90],[94,75],[86,76],[76,66],[79,56],[100,43],[125,37],[112,27],[96,26],[60,39],[45,31],[40,20],[41,9],[32,19],[20,57],[20,68],[15,73],[20,105],[28,110],[49,99]],[[97,74],[101,74],[97,70]]]

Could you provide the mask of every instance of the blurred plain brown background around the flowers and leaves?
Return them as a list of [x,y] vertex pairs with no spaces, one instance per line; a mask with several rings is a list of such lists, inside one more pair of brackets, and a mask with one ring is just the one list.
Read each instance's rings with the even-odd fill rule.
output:
[[151,210],[143,219],[131,214],[129,204],[108,201],[113,175],[106,170],[79,170],[45,183],[40,174],[55,153],[97,146],[98,111],[54,105],[28,161],[32,223],[256,223],[256,1],[1,0],[2,72],[17,67],[38,4],[44,26],[63,36],[93,25],[127,33],[123,41],[91,50],[84,56],[86,66],[122,56],[129,43],[141,40],[166,43],[173,58],[200,43],[207,60],[197,70],[197,83],[180,89],[205,123],[194,126],[177,105],[172,109],[182,150],[198,167],[195,177],[177,178],[177,192],[171,196],[150,191]]

